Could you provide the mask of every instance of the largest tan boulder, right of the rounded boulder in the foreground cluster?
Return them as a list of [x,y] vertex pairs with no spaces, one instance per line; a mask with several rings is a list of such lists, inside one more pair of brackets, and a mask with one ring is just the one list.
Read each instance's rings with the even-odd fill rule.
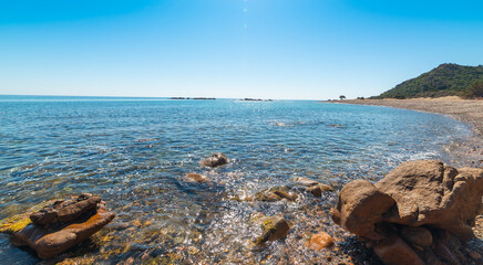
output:
[[411,161],[374,186],[397,203],[386,222],[431,224],[465,241],[474,236],[470,224],[483,210],[483,169],[456,170],[441,161]]

